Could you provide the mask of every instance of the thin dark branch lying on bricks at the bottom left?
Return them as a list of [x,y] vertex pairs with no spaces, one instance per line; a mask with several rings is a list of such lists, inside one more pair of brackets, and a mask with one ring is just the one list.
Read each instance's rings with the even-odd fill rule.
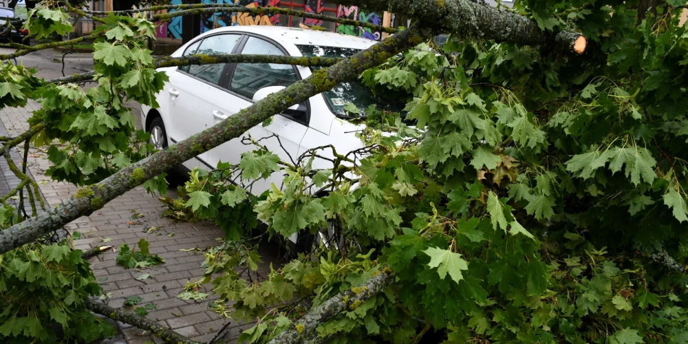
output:
[[164,341],[165,343],[199,343],[197,341],[192,341],[190,338],[186,338],[186,336],[182,336],[181,334],[178,334],[173,330],[169,330],[168,328],[163,327],[162,325],[155,323],[154,321],[150,321],[144,318],[143,316],[138,316],[133,313],[117,310],[115,308],[111,308],[108,305],[103,305],[103,303],[87,300],[86,307],[96,314],[105,315],[110,319],[121,321],[122,323],[128,323],[129,325],[136,326],[142,330],[146,330],[153,334],[153,336],[162,339],[162,341]]

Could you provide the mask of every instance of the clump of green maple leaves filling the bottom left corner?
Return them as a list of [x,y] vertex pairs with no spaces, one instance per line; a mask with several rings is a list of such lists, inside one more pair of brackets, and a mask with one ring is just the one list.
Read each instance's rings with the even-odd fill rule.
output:
[[99,295],[101,289],[81,253],[63,241],[33,244],[0,256],[4,343],[92,342],[115,333],[114,327],[86,308],[85,299]]

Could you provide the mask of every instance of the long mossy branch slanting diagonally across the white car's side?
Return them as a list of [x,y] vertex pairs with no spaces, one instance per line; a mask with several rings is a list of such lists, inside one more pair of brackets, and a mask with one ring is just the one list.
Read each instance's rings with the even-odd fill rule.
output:
[[[217,125],[173,144],[135,164],[111,175],[91,191],[79,193],[70,200],[47,211],[0,231],[0,253],[28,244],[54,228],[60,228],[74,219],[89,215],[115,197],[133,189],[146,180],[167,171],[172,166],[204,153],[228,140],[241,136],[248,129],[279,114],[288,107],[332,89],[338,83],[352,80],[365,69],[383,63],[387,58],[413,47],[430,36],[429,30],[411,28],[387,37],[384,41],[354,54],[327,69],[320,69],[308,78],[270,94],[250,107],[241,110]],[[90,195],[89,195],[90,194]]]

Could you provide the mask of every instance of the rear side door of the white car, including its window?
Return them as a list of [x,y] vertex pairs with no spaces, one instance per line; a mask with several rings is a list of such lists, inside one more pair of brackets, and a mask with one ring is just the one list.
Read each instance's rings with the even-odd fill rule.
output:
[[[240,41],[241,34],[206,36],[199,42],[189,45],[184,55],[230,54]],[[227,67],[226,63],[191,65],[180,67],[172,73],[168,89],[170,118],[167,129],[172,142],[184,140],[215,125],[214,104],[232,103],[233,98],[236,98],[222,89],[228,77]],[[184,165],[189,169],[216,166],[208,164],[208,152],[198,155],[195,160],[185,162]]]

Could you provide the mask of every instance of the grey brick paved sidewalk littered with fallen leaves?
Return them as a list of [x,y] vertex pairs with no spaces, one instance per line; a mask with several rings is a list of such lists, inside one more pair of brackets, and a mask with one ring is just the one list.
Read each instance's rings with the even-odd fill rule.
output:
[[[39,109],[39,105],[32,101],[24,109],[6,108],[0,111],[0,120],[10,135],[14,136],[28,129],[26,120],[35,109]],[[50,162],[41,151],[32,149],[28,162],[28,170],[39,182],[39,188],[45,195],[46,206],[56,206],[76,193],[76,187],[72,184],[53,182],[44,175]],[[90,259],[96,279],[106,292],[112,293],[107,304],[121,308],[127,297],[138,295],[143,299],[140,305],[155,305],[155,309],[149,311],[149,319],[196,341],[210,341],[228,320],[220,319],[208,309],[208,302],[214,299],[209,286],[205,286],[205,292],[211,296],[204,302],[184,301],[176,297],[182,292],[186,281],[195,281],[203,272],[200,268],[204,260],[202,252],[185,252],[180,249],[213,246],[217,244],[216,238],[223,236],[222,230],[213,224],[171,222],[161,217],[163,210],[162,203],[156,197],[148,195],[142,187],[137,187],[105,204],[100,211],[89,217],[80,217],[65,228],[71,233],[82,233],[81,239],[74,241],[76,248],[82,250],[103,245],[116,248],[125,242],[131,247],[139,238],[144,237],[150,243],[151,253],[164,258],[164,264],[140,270],[125,269],[115,264],[117,252],[113,251]],[[138,220],[131,219],[132,211],[143,216]],[[153,226],[160,229],[144,233]],[[104,244],[105,238],[112,240]],[[149,273],[151,278],[143,281],[135,279],[143,273]],[[131,307],[125,310],[133,312]],[[160,343],[157,338],[151,338],[136,327],[119,322],[116,325],[120,334],[103,343]],[[240,325],[232,320],[223,336],[224,341],[235,342],[241,330],[247,327],[250,325]]]

